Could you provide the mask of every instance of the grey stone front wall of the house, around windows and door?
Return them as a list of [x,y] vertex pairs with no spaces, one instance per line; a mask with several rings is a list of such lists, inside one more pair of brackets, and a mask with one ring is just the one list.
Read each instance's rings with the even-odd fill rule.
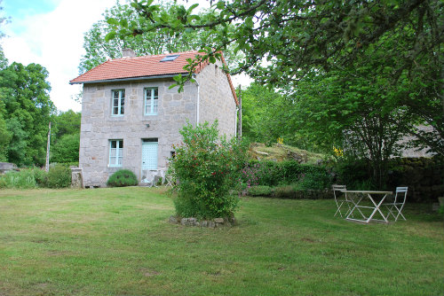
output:
[[[140,180],[142,139],[158,139],[158,169],[165,169],[167,159],[178,144],[178,130],[186,121],[195,124],[197,87],[187,83],[184,92],[169,90],[172,79],[140,82],[85,84],[83,86],[82,126],[79,167],[84,185],[104,186],[107,178],[121,168],[133,171]],[[157,87],[157,115],[144,115],[144,89]],[[125,111],[111,115],[112,90],[125,90]],[[149,125],[149,127],[147,127]],[[109,140],[123,139],[123,166],[109,167]]]

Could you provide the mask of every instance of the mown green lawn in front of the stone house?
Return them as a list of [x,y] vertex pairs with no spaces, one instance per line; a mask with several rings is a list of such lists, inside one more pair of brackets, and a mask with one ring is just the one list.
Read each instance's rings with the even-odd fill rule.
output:
[[159,189],[0,191],[0,295],[443,295],[442,217],[333,217],[334,201],[242,198],[238,225],[170,224]]

